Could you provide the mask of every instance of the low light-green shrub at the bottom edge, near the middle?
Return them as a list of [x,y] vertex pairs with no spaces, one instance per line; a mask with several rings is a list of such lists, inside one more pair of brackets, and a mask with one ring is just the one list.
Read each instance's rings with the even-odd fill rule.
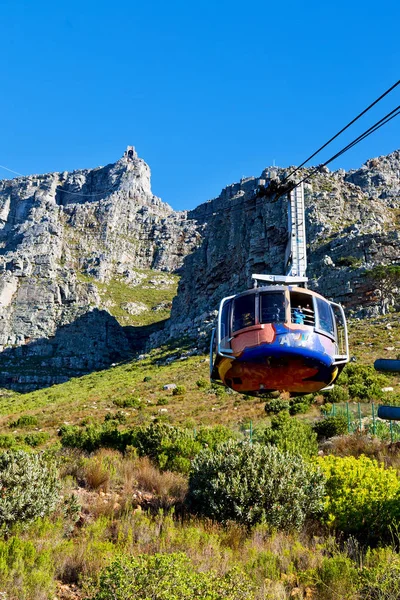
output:
[[187,556],[121,556],[100,574],[92,600],[252,600],[254,588],[245,573],[223,576],[197,572]]

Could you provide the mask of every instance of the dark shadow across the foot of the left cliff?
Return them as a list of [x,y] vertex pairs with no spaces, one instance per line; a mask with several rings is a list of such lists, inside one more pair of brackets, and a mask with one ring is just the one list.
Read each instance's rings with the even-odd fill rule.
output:
[[165,322],[122,327],[107,311],[91,310],[52,337],[3,350],[0,388],[28,392],[130,360]]

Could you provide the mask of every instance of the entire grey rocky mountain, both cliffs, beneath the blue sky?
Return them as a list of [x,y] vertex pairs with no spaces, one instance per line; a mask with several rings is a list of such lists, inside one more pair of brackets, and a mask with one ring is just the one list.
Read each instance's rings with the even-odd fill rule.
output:
[[[271,171],[289,172],[260,178]],[[151,193],[135,152],[0,181],[0,387],[51,385],[174,336],[205,347],[220,299],[246,289],[252,272],[284,268],[287,203],[256,198],[258,180],[189,212]],[[310,287],[354,314],[376,312],[365,271],[400,260],[400,152],[325,169],[305,202]]]

